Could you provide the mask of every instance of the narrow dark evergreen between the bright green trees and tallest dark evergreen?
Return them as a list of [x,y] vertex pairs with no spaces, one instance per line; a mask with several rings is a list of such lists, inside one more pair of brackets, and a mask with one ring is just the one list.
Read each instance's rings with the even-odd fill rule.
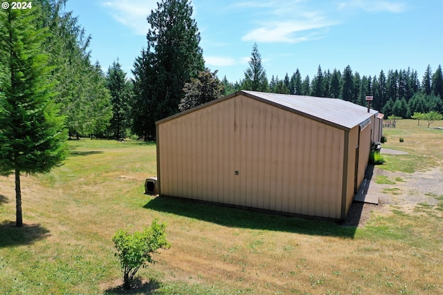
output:
[[116,139],[125,137],[125,131],[129,128],[129,107],[131,84],[126,80],[126,73],[123,72],[120,63],[114,61],[108,68],[106,76],[107,88],[111,93],[112,113],[108,134]]

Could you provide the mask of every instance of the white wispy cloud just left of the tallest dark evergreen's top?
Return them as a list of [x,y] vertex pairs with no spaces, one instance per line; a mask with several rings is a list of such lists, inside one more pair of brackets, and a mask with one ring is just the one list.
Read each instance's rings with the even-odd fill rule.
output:
[[107,0],[102,6],[109,10],[116,21],[131,28],[136,35],[146,35],[150,28],[147,16],[155,10],[156,0]]

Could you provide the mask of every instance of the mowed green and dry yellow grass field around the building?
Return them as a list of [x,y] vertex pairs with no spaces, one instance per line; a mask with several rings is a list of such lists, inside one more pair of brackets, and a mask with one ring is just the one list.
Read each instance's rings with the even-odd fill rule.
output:
[[[421,124],[385,129],[383,147],[409,154],[386,155],[383,169],[442,172],[443,130]],[[154,218],[172,245],[130,294],[443,294],[443,189],[426,210],[374,207],[363,227],[344,227],[152,198],[154,144],[69,145],[63,166],[23,176],[24,228],[14,227],[14,178],[0,177],[0,294],[126,294],[111,238]]]

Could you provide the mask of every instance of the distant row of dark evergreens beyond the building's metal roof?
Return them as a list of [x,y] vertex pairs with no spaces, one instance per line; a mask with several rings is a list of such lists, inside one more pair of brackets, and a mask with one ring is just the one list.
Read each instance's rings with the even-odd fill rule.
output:
[[[244,89],[244,81],[234,84],[224,77],[221,83],[225,94]],[[387,74],[381,70],[378,76],[361,77],[358,72],[352,73],[350,66],[343,73],[336,69],[332,72],[323,71],[318,66],[312,79],[309,76],[302,79],[297,69],[291,76],[286,74],[283,79],[272,76],[266,91],[339,98],[362,106],[366,104],[365,96],[370,95],[374,97],[371,107],[386,116],[410,118],[416,112],[443,112],[443,75],[440,65],[434,73],[428,65],[422,77],[410,68],[388,70]]]

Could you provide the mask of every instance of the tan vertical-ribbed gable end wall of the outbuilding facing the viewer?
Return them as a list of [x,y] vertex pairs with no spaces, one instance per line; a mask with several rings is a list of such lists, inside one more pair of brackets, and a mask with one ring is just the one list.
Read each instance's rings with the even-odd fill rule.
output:
[[162,195],[341,218],[343,130],[243,96],[158,130]]

